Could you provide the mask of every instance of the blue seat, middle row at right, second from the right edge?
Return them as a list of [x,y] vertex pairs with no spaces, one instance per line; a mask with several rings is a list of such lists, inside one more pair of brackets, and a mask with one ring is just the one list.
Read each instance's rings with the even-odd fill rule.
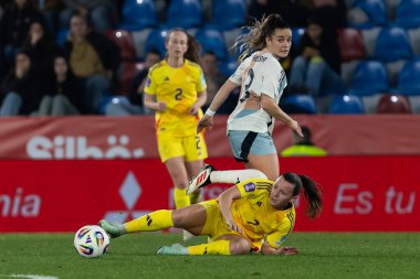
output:
[[389,77],[384,63],[363,61],[355,69],[350,92],[359,96],[369,96],[388,92]]

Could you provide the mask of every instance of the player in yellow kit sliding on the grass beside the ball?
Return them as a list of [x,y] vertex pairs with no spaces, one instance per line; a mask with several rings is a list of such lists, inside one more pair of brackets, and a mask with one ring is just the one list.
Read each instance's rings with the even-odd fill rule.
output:
[[300,253],[297,248],[282,244],[295,224],[294,201],[302,187],[308,203],[306,214],[312,219],[323,207],[317,184],[306,175],[287,172],[275,182],[261,178],[241,181],[216,200],[174,211],[156,211],[125,224],[102,219],[99,226],[111,237],[169,227],[182,228],[196,236],[209,236],[207,244],[164,246],[157,251],[161,255],[241,255],[251,251],[294,255]]

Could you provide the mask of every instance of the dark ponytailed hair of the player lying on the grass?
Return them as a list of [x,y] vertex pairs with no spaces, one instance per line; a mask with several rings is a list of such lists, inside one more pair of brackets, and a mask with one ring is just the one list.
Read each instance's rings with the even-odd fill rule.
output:
[[323,211],[323,200],[321,197],[322,191],[318,184],[311,178],[294,172],[286,172],[282,175],[285,181],[295,186],[292,194],[293,196],[297,196],[301,193],[302,187],[304,189],[305,198],[308,204],[306,215],[311,219],[318,216]]

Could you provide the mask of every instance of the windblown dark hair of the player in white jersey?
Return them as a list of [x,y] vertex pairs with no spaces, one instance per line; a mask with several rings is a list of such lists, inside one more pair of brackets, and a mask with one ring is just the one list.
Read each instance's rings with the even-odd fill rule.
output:
[[232,49],[238,49],[242,54],[239,61],[244,61],[251,53],[261,51],[266,46],[265,37],[274,34],[276,29],[290,29],[290,25],[283,20],[282,15],[272,13],[261,21],[255,20],[253,26],[248,26],[245,34],[240,35]]

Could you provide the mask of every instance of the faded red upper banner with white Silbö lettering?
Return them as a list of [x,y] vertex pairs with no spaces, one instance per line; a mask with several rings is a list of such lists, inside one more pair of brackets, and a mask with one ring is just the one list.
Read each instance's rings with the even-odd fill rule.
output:
[[[420,154],[419,115],[295,117],[330,155]],[[214,117],[206,133],[211,158],[231,154],[225,122],[227,116]],[[279,153],[292,144],[292,131],[281,121],[273,138]],[[0,142],[1,160],[158,158],[151,116],[0,118]]]

